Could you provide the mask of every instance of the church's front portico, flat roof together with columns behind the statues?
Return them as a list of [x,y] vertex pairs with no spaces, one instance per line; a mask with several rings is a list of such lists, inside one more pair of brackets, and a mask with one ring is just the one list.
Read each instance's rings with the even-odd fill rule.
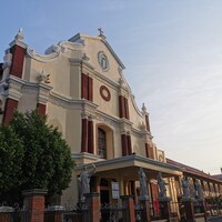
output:
[[85,155],[88,154],[82,153],[82,158],[79,155],[75,176],[80,174],[80,171],[83,167],[87,167],[87,169],[90,171],[93,169],[92,163],[95,165],[97,170],[94,175],[91,178],[90,186],[92,192],[100,193],[101,204],[120,201],[120,199],[115,200],[112,195],[113,190],[111,182],[118,182],[119,195],[132,195],[134,203],[138,203],[140,195],[138,172],[140,168],[143,169],[149,180],[148,193],[151,198],[151,202],[157,200],[159,195],[159,189],[155,180],[159,172],[162,173],[164,180],[167,180],[169,183],[168,195],[171,196],[172,200],[176,200],[176,193],[173,192],[174,188],[172,188],[172,184],[169,180],[173,178],[174,180],[179,181],[179,178],[182,176],[180,168],[138,154],[100,161],[90,161],[89,155],[88,161],[85,161]]

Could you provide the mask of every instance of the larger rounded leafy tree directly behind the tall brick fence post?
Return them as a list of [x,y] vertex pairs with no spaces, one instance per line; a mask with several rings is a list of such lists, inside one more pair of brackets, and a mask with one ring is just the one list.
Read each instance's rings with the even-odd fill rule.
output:
[[27,113],[16,111],[12,121],[4,128],[11,129],[23,144],[19,191],[47,189],[52,195],[69,186],[74,167],[71,150],[61,132],[47,124],[46,115],[40,115],[37,110]]

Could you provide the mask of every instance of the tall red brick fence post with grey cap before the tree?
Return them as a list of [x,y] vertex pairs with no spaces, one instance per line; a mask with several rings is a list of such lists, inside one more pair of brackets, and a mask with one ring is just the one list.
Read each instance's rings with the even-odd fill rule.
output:
[[46,190],[33,189],[22,192],[23,204],[29,212],[29,222],[44,222],[44,195]]

